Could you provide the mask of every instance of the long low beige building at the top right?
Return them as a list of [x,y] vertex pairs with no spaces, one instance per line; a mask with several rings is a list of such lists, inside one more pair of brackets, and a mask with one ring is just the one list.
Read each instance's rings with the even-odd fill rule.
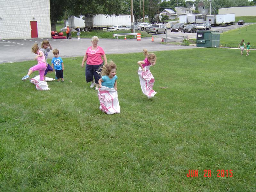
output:
[[256,16],[256,6],[253,7],[227,7],[219,9],[219,14],[235,13],[236,17]]

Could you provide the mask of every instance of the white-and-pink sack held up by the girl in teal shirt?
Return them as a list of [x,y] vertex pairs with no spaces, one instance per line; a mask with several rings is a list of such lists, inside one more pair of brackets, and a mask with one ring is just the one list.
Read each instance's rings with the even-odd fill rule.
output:
[[120,113],[117,91],[114,88],[101,86],[98,91],[100,110],[108,115]]

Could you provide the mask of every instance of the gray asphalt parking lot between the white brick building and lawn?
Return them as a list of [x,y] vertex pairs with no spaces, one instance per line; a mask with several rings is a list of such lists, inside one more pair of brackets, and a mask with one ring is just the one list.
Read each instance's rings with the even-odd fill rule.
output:
[[[12,39],[0,40],[0,63],[4,62],[18,62],[33,60],[35,54],[31,52],[33,44],[37,43],[41,46],[42,41],[45,39]],[[86,49],[92,45],[91,39],[47,39],[49,40],[52,48],[57,48],[60,51],[60,57],[77,57],[84,56]],[[179,45],[166,45],[161,44],[161,38],[155,38],[151,42],[150,38],[142,38],[141,41],[136,39],[100,39],[99,46],[101,46],[106,54],[116,53],[134,53],[141,52],[144,48],[149,52],[164,51],[164,50],[177,50],[177,49],[192,49],[196,47],[179,46]],[[52,58],[50,52],[48,58]]]

